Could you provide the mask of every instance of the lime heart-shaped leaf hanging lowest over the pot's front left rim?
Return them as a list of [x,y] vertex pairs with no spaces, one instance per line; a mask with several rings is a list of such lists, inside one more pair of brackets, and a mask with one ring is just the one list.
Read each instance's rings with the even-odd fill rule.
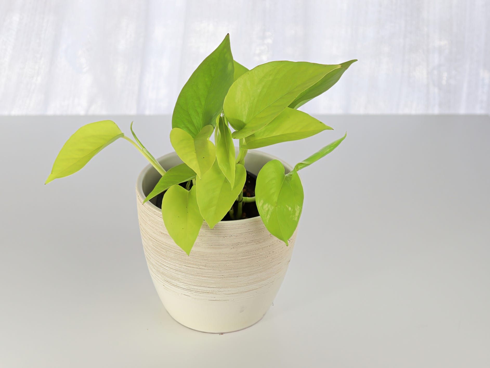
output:
[[202,226],[196,188],[187,191],[180,185],[171,186],[163,196],[162,217],[175,244],[189,255]]

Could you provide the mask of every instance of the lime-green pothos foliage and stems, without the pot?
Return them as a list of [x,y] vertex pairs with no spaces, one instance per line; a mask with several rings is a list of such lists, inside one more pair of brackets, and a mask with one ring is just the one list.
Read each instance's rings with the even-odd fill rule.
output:
[[[80,170],[103,148],[122,138],[161,174],[145,202],[165,192],[165,227],[187,254],[203,220],[212,229],[227,213],[240,219],[243,203],[251,201],[269,232],[287,245],[303,206],[298,171],[332,152],[345,135],[298,162],[288,174],[280,161],[268,162],[257,176],[252,198],[243,196],[247,151],[331,130],[297,108],[332,87],[355,61],[335,65],[272,61],[248,70],[233,60],[226,35],[177,98],[170,142],[182,164],[164,170],[138,139],[132,123],[134,141],[113,121],[104,120],[81,127],[68,139],[46,184]],[[210,141],[213,131],[214,144]],[[234,139],[239,143],[237,157]]]

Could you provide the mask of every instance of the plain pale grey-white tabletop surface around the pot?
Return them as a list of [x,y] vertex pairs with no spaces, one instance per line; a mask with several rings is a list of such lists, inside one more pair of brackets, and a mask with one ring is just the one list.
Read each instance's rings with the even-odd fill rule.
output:
[[120,140],[43,185],[79,126],[134,120],[154,156],[169,117],[1,117],[0,367],[489,367],[490,118],[323,116],[335,131],[264,151],[301,171],[293,259],[256,325],[215,335],[165,311]]

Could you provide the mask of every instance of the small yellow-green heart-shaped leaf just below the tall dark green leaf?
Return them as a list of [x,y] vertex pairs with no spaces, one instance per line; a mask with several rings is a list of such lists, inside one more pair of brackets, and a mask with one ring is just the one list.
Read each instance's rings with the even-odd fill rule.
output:
[[213,130],[212,125],[206,125],[195,138],[180,128],[173,128],[170,132],[170,142],[177,156],[193,169],[198,177],[213,166],[216,158],[216,148],[209,140]]

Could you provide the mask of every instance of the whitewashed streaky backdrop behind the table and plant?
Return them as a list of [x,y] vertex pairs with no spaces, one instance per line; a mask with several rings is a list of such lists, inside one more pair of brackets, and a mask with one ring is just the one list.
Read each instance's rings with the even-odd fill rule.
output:
[[248,68],[337,64],[310,113],[489,113],[490,1],[0,2],[0,114],[167,114],[230,33]]

